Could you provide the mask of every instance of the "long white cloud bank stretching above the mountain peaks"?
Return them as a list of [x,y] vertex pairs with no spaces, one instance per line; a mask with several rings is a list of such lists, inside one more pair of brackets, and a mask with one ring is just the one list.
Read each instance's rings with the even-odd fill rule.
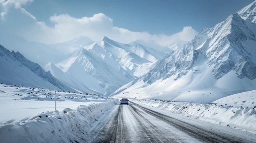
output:
[[[165,46],[170,43],[184,44],[194,38],[197,32],[190,26],[184,27],[181,32],[172,35],[165,34],[149,34],[148,32],[133,32],[124,28],[113,26],[113,20],[105,14],[94,14],[92,17],[74,18],[68,14],[54,15],[50,17],[50,22],[54,26],[47,26],[44,22],[36,20],[32,14],[27,12],[22,5],[32,0],[0,0],[1,18],[5,19],[3,26],[0,28],[4,32],[14,33],[22,36],[30,41],[37,41],[46,44],[64,42],[79,36],[88,36],[94,41],[100,41],[103,36],[116,40],[118,42],[129,43],[135,40],[144,40],[155,42],[156,44]],[[20,13],[11,12],[13,9],[20,10]],[[15,10],[13,10],[15,11]],[[14,25],[15,19],[9,21],[8,15],[19,17]],[[12,22],[12,24],[10,24]],[[3,23],[3,22],[2,22]],[[20,27],[19,25],[22,25]],[[6,30],[9,27],[9,31]],[[2,26],[1,26],[2,27]],[[13,28],[15,27],[15,28]]]

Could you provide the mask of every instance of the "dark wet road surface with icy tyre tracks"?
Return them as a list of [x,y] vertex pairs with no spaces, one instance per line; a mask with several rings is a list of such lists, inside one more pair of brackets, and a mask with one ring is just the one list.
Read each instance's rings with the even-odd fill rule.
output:
[[89,139],[94,143],[253,143],[256,135],[130,103],[116,105]]

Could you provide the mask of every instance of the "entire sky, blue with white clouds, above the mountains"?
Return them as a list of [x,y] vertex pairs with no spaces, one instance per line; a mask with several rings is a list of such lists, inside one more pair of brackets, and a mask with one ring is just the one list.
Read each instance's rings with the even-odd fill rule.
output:
[[253,0],[0,0],[0,32],[53,44],[87,36],[182,45]]

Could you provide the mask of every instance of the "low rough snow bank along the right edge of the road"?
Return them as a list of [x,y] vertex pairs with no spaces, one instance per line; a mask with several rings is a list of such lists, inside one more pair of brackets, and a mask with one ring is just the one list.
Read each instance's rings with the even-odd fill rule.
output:
[[222,104],[180,103],[151,99],[129,99],[138,104],[164,109],[212,123],[256,133],[256,110]]

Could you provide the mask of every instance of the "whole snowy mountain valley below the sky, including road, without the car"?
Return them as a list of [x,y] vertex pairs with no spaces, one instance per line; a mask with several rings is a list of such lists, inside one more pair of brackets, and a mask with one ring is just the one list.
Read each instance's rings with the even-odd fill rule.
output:
[[0,34],[0,142],[256,142],[256,1],[193,37]]

